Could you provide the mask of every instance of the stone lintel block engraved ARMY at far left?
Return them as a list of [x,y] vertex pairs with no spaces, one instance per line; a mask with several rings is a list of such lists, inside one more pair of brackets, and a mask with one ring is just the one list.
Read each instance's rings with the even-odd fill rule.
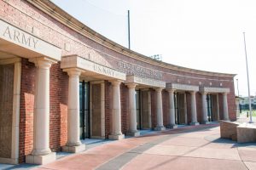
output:
[[[57,61],[61,60],[61,48],[57,48],[49,42],[35,37],[31,33],[20,30],[0,19],[0,39],[17,45],[15,51],[24,51],[25,58],[47,56]],[[17,50],[19,49],[19,50]],[[4,47],[1,48],[4,51]],[[29,52],[29,54],[27,53]],[[31,54],[30,54],[31,53]],[[19,53],[22,55],[22,53]],[[31,55],[31,56],[30,56]]]

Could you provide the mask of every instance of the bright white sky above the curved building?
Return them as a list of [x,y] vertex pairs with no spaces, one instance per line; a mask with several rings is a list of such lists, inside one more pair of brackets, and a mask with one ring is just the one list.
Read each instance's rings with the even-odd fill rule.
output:
[[236,95],[247,96],[246,32],[251,95],[256,95],[255,0],[52,0],[94,31],[172,65],[236,74]]

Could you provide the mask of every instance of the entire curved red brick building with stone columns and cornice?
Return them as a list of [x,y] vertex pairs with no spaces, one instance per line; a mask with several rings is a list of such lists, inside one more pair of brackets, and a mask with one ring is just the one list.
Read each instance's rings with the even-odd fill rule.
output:
[[123,139],[236,120],[232,74],[137,54],[49,0],[0,0],[0,162],[42,164]]

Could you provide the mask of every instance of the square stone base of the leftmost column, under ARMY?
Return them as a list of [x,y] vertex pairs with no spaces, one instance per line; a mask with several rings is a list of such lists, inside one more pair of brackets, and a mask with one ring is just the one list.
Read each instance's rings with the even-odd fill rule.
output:
[[32,155],[26,156],[26,163],[30,163],[30,164],[44,165],[46,163],[49,163],[55,160],[56,160],[55,152],[50,152],[48,155],[45,155],[45,156],[32,156]]

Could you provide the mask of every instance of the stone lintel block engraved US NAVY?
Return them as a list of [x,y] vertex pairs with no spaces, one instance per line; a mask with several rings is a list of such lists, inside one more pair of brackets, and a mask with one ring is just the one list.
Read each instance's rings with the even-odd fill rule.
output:
[[124,81],[126,75],[124,72],[116,71],[104,65],[96,64],[88,59],[79,57],[78,55],[68,55],[61,58],[61,69],[68,70],[78,68],[84,72],[92,72],[105,76],[107,80],[118,79]]

